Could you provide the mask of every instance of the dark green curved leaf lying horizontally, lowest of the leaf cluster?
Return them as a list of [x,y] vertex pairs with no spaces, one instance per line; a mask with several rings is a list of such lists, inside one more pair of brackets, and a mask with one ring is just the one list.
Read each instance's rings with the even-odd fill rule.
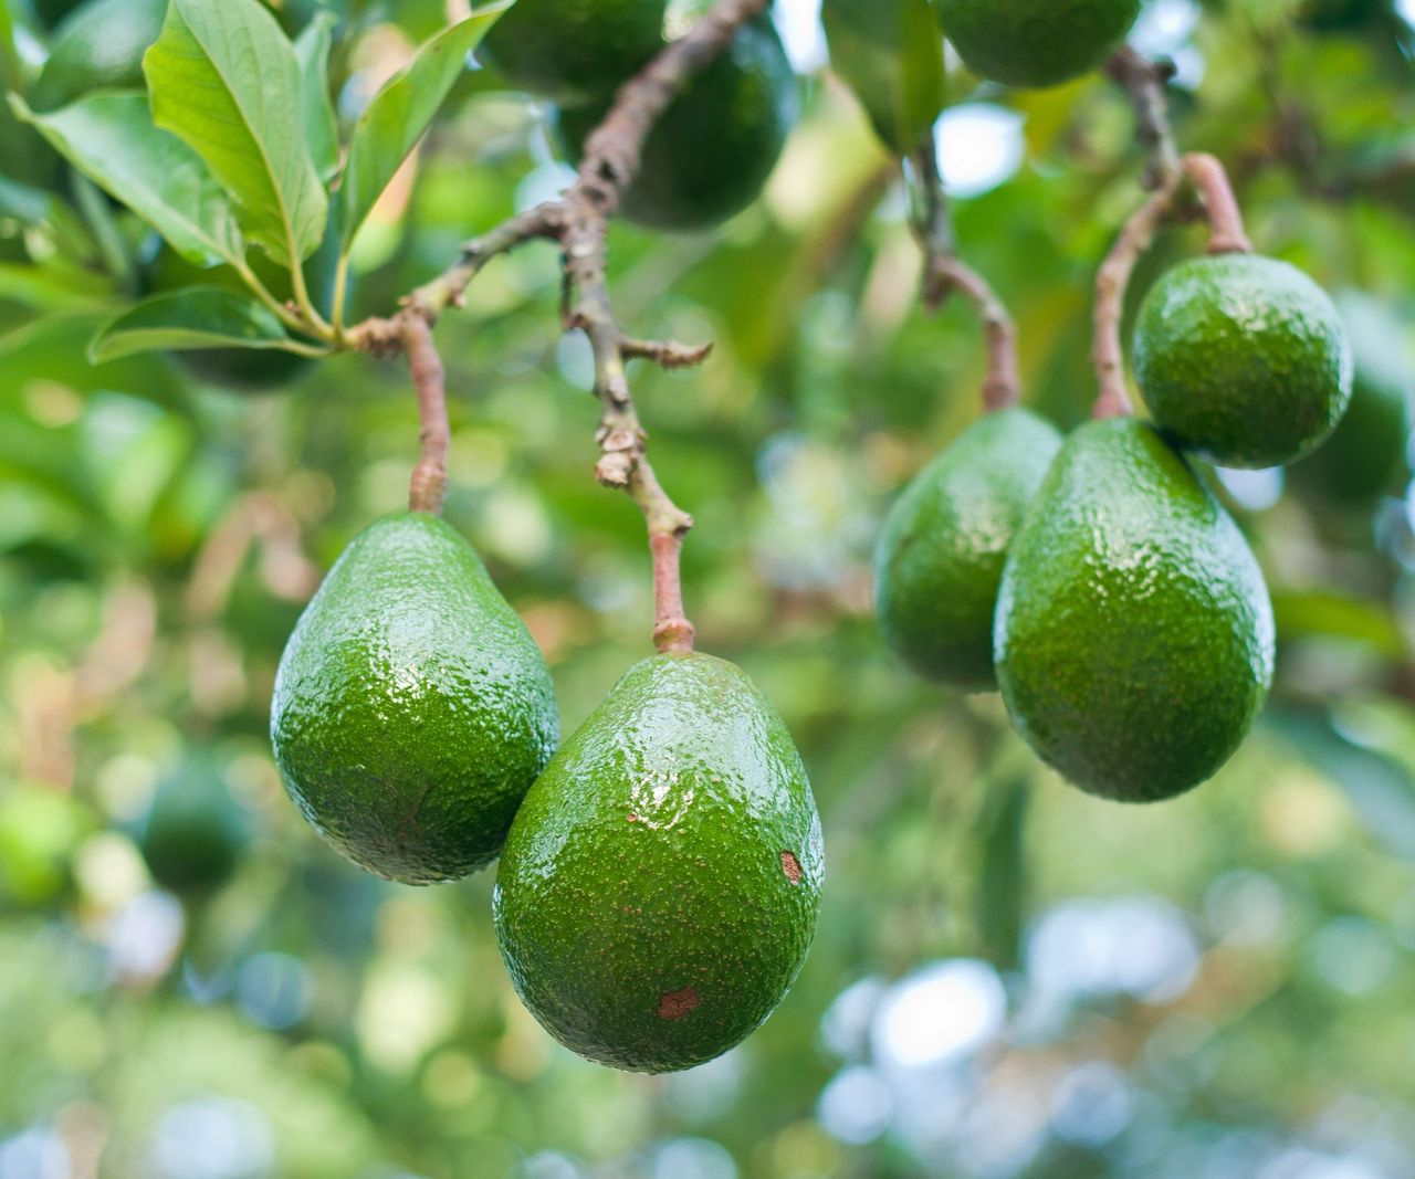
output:
[[275,312],[253,298],[216,287],[185,287],[110,319],[88,353],[96,365],[161,348],[286,348],[290,342]]

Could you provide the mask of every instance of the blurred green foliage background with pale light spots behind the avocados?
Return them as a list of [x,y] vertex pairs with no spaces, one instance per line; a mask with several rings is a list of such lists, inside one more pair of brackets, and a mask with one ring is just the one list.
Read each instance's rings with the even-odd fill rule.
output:
[[[444,14],[335,7],[350,119]],[[0,1179],[1415,1172],[1407,502],[1228,482],[1278,605],[1278,684],[1177,802],[1090,799],[996,697],[913,679],[873,630],[869,550],[976,413],[982,358],[965,307],[917,307],[903,198],[799,35],[809,7],[784,6],[808,103],[764,199],[710,235],[613,237],[623,321],[717,342],[700,373],[642,369],[637,390],[698,519],[700,645],[785,715],[829,865],[787,1002],[664,1079],[587,1064],[521,1009],[490,872],[429,891],[358,872],[270,762],[290,626],[405,498],[405,372],[340,358],[242,397],[160,356],[91,368],[129,293],[52,226],[140,233],[0,127],[0,195],[38,181],[59,202],[0,205]],[[41,23],[8,11],[37,62]],[[1409,324],[1409,23],[1384,0],[1153,0],[1139,37],[1179,62],[1180,139],[1230,164],[1258,249]],[[1099,78],[1022,93],[951,72],[949,102],[962,252],[1019,318],[1029,401],[1075,424],[1090,281],[1138,199],[1125,99]],[[359,308],[565,178],[536,107],[468,74],[361,239]],[[1170,235],[1136,295],[1200,245]],[[553,252],[529,247],[437,336],[447,516],[545,649],[569,731],[645,653],[651,602],[642,523],[590,476],[597,411],[558,294]],[[239,847],[219,886],[151,879],[160,790],[208,799]]]

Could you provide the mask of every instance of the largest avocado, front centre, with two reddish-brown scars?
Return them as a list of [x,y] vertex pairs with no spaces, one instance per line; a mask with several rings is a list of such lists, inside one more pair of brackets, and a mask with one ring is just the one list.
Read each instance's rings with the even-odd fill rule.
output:
[[815,932],[824,854],[801,756],[732,663],[635,664],[507,838],[494,912],[516,991],[558,1040],[634,1072],[753,1032]]

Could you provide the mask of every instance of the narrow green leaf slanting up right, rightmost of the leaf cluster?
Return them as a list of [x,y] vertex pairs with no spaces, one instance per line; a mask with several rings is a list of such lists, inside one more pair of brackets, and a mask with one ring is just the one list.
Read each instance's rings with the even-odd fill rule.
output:
[[508,7],[497,4],[440,33],[417,51],[406,69],[388,81],[359,116],[344,171],[342,253],[348,253],[369,209],[466,69],[467,54],[477,48]]

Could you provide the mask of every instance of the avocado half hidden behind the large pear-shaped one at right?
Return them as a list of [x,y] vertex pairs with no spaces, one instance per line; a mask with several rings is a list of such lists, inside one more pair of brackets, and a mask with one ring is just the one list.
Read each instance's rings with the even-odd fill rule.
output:
[[1061,434],[1023,409],[986,414],[894,503],[874,550],[880,633],[921,676],[992,691],[992,616],[1007,546]]

